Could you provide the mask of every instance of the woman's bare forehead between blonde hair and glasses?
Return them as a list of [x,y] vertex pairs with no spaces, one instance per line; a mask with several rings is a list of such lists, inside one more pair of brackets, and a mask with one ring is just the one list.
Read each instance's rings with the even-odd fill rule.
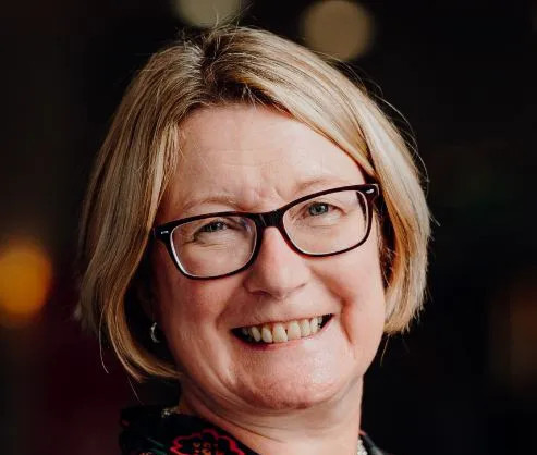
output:
[[175,216],[192,200],[229,196],[239,209],[265,210],[364,181],[338,146],[269,108],[204,108],[185,120],[180,134],[180,159],[163,201]]

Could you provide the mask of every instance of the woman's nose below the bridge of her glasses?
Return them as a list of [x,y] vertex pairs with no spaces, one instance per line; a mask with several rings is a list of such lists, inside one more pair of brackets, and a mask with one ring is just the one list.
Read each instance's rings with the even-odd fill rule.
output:
[[309,275],[307,258],[291,249],[278,229],[267,228],[244,285],[249,293],[281,300],[303,287]]

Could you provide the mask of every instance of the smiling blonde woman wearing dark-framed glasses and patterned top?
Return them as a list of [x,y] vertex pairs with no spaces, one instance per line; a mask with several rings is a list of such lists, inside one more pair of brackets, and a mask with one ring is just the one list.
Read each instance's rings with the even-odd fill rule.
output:
[[155,54],[81,236],[81,318],[182,391],[123,414],[123,453],[380,453],[363,377],[422,304],[428,235],[404,140],[310,51],[221,28]]

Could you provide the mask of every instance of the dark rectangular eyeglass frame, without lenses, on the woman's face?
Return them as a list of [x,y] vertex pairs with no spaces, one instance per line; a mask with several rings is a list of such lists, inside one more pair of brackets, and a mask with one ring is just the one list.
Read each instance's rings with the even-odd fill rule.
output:
[[[351,189],[359,192],[361,194],[363,194],[365,199],[366,199],[366,202],[367,202],[366,206],[367,206],[368,217],[367,217],[367,229],[366,229],[366,233],[364,235],[364,238],[362,238],[359,242],[357,242],[353,246],[350,246],[347,248],[344,248],[342,250],[334,251],[334,253],[318,253],[318,254],[316,254],[316,253],[307,253],[307,251],[304,251],[301,248],[298,248],[293,243],[293,241],[289,236],[288,232],[285,231],[285,226],[283,224],[283,216],[285,214],[285,212],[290,208],[292,208],[292,207],[294,207],[294,206],[296,206],[296,205],[298,205],[298,204],[301,204],[307,199],[312,199],[314,197],[322,196],[322,195],[326,195],[329,193],[340,193],[340,192],[346,192],[346,190],[351,190]],[[358,246],[363,245],[367,241],[367,238],[369,237],[369,233],[371,231],[371,223],[373,223],[373,212],[374,212],[373,202],[375,201],[375,199],[377,197],[379,197],[379,195],[380,195],[380,188],[379,188],[379,185],[376,183],[340,186],[337,188],[325,189],[322,192],[313,193],[310,195],[303,196],[298,199],[295,199],[295,200],[284,205],[283,207],[280,207],[279,209],[270,210],[270,211],[263,212],[263,213],[252,213],[252,212],[243,212],[243,211],[220,211],[220,212],[215,212],[215,213],[205,213],[205,214],[198,214],[195,217],[188,217],[188,218],[182,218],[179,220],[169,221],[164,224],[160,224],[158,226],[155,226],[151,230],[151,235],[154,236],[154,238],[162,242],[166,245],[166,248],[167,248],[168,253],[170,254],[170,257],[172,258],[173,263],[175,265],[178,270],[183,275],[185,275],[186,278],[188,278],[191,280],[215,280],[218,278],[224,278],[224,276],[233,275],[235,273],[240,273],[243,270],[246,270],[249,266],[252,266],[252,263],[254,263],[254,261],[256,260],[257,255],[259,254],[259,249],[261,248],[261,243],[263,243],[263,235],[264,235],[264,232],[267,228],[277,228],[278,231],[280,231],[280,234],[282,235],[283,239],[291,247],[291,249],[293,249],[294,251],[296,251],[301,255],[307,256],[307,257],[335,256],[335,255],[341,255],[342,253],[350,251],[351,249],[357,248]],[[197,221],[197,220],[203,220],[205,218],[213,218],[213,217],[244,217],[244,218],[248,218],[249,220],[254,221],[254,224],[256,226],[256,242],[254,245],[254,249],[252,251],[252,256],[244,266],[242,266],[241,268],[239,268],[236,270],[228,272],[228,273],[223,273],[220,275],[213,275],[213,276],[197,276],[197,275],[190,274],[181,266],[181,261],[179,260],[176,253],[175,253],[175,249],[173,247],[173,238],[172,238],[173,230],[176,226],[179,226],[181,224],[190,223],[191,221]]]

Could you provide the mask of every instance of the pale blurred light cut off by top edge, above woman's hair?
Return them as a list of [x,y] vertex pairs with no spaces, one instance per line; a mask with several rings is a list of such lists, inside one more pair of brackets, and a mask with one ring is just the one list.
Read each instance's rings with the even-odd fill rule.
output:
[[244,3],[244,0],[174,0],[174,9],[186,24],[208,28],[236,20]]

